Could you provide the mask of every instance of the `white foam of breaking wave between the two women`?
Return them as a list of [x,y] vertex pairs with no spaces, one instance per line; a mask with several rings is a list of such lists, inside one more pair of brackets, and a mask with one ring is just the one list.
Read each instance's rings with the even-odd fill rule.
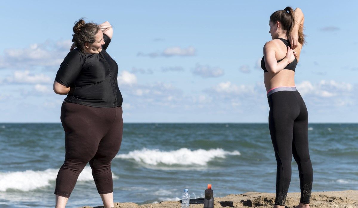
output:
[[239,151],[228,152],[221,148],[216,149],[197,149],[180,148],[173,151],[160,151],[159,149],[134,150],[128,154],[118,154],[116,158],[134,159],[136,162],[142,162],[150,165],[159,163],[166,165],[200,165],[205,166],[214,158],[225,158],[227,155],[240,155]]

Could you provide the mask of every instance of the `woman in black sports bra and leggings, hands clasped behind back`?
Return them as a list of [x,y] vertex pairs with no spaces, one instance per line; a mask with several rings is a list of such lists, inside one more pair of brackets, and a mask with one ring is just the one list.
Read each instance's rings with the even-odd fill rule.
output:
[[263,47],[261,67],[269,101],[269,128],[277,162],[274,208],[284,208],[291,181],[292,154],[298,165],[301,199],[296,208],[310,203],[313,170],[308,151],[308,113],[295,87],[295,69],[300,59],[304,15],[291,7],[270,16],[272,40]]

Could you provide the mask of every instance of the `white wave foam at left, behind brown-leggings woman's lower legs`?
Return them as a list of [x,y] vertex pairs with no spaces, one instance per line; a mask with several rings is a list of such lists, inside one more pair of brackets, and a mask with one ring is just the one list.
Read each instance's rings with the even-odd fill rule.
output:
[[[55,181],[59,169],[46,169],[44,171],[14,171],[0,172],[0,191],[17,189],[20,191],[31,191],[37,188],[50,186]],[[113,178],[117,178],[112,173]],[[77,181],[93,181],[91,167],[86,166]],[[54,183],[53,183],[54,184]]]

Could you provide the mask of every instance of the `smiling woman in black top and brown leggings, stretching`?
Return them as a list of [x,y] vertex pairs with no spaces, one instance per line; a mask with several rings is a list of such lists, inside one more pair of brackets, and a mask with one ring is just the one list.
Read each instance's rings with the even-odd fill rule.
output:
[[113,29],[109,22],[81,19],[73,32],[74,45],[53,84],[55,93],[67,95],[61,107],[66,154],[56,179],[56,208],[66,206],[88,162],[103,206],[114,207],[111,161],[121,146],[123,120],[118,65],[106,52]]

